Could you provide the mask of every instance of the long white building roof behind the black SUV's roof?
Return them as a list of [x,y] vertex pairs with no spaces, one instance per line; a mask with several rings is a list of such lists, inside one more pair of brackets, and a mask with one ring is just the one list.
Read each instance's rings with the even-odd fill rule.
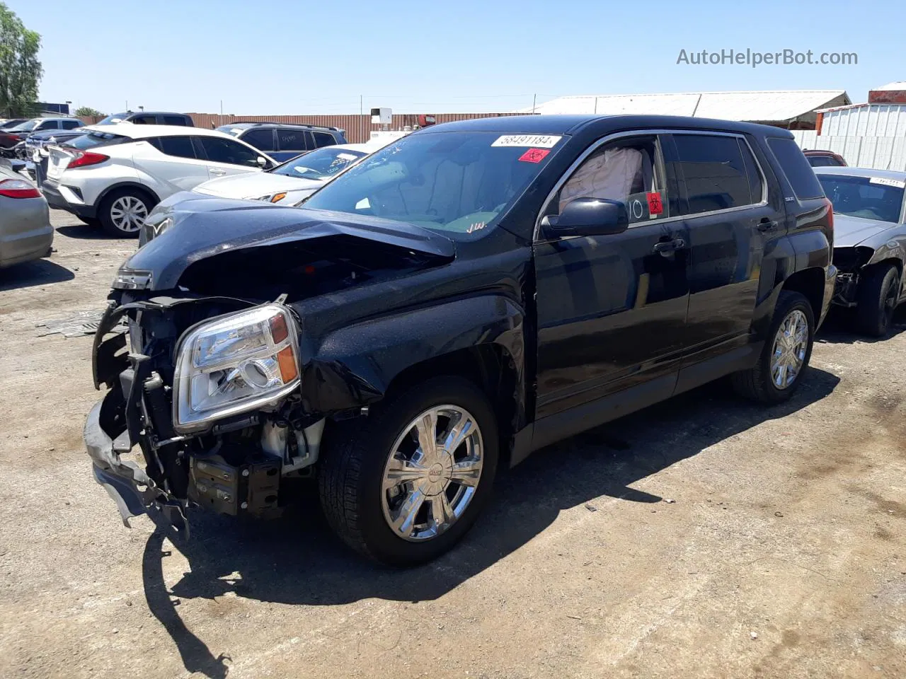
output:
[[[535,107],[535,113],[634,113],[790,123],[814,122],[815,110],[849,103],[845,90],[602,94],[545,101]],[[532,109],[517,112],[531,113]]]

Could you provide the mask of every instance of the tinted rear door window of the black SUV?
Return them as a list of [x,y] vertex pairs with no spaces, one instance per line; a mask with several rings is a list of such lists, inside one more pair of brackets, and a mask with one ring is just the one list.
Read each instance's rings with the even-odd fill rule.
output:
[[736,137],[676,134],[679,171],[686,189],[684,215],[758,203]]

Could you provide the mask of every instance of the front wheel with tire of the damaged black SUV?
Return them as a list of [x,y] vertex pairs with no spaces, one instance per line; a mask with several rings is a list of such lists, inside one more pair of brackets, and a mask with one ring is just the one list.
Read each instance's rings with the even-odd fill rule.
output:
[[439,557],[491,493],[496,417],[467,379],[431,378],[327,435],[319,470],[324,515],[352,549],[381,563]]

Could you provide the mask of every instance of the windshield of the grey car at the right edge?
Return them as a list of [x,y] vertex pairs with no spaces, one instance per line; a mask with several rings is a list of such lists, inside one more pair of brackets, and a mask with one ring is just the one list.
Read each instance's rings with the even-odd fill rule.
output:
[[824,195],[838,215],[897,223],[903,205],[906,181],[887,177],[819,175]]

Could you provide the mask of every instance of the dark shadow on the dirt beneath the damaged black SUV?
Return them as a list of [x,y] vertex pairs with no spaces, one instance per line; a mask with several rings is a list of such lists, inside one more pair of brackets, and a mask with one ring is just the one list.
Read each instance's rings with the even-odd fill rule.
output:
[[142,568],[148,605],[176,643],[188,672],[224,677],[226,658],[212,655],[188,629],[170,594],[214,598],[232,591],[238,597],[308,606],[362,598],[436,599],[518,550],[563,510],[602,495],[660,502],[631,484],[729,436],[809,406],[838,382],[811,368],[795,397],[773,407],[741,401],[728,394],[725,383],[716,383],[539,451],[502,474],[495,499],[457,548],[418,569],[383,569],[356,557],[327,531],[313,497],[276,522],[239,525],[197,515],[192,539],[175,542],[191,571],[171,592],[161,564],[168,554],[162,551],[167,532],[159,528],[149,537]]

